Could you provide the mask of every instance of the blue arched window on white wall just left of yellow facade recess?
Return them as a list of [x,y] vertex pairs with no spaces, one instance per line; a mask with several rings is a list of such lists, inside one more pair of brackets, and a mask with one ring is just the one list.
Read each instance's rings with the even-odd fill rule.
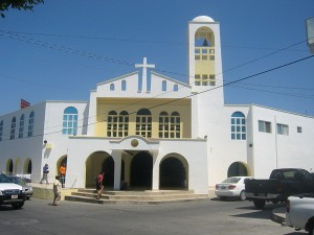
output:
[[76,135],[77,134],[77,120],[78,112],[74,107],[68,107],[63,113],[63,129],[64,135]]

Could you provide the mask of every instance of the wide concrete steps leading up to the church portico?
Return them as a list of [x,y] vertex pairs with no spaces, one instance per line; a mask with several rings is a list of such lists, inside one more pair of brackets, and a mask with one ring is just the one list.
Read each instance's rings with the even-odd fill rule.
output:
[[208,199],[206,194],[195,194],[188,190],[161,191],[104,191],[101,199],[96,199],[96,190],[79,189],[65,196],[67,201],[78,201],[97,204],[160,204]]

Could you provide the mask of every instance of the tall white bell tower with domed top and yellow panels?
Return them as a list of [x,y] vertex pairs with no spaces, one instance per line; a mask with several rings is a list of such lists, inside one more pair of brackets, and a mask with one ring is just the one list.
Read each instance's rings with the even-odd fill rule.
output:
[[224,109],[220,25],[209,16],[198,16],[188,25],[188,83],[192,88],[192,136],[217,134]]

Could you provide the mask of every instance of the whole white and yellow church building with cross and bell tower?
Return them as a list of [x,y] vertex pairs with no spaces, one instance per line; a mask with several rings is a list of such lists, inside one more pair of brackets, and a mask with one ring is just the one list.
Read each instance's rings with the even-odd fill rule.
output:
[[[0,116],[0,170],[66,187],[186,189],[207,194],[228,176],[267,178],[275,168],[314,167],[314,119],[255,104],[224,103],[220,24],[188,23],[187,83],[136,64],[96,85],[88,101],[43,101]],[[152,58],[150,58],[153,60]],[[249,101],[248,101],[249,102]]]

